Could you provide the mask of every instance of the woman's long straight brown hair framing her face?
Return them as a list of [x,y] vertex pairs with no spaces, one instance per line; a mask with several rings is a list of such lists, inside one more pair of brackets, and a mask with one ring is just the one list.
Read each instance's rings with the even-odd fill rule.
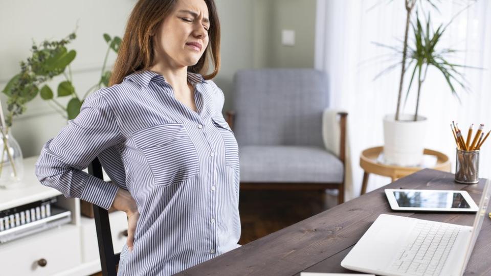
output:
[[[129,16],[123,40],[118,51],[109,85],[121,83],[127,75],[148,70],[154,65],[153,35],[172,12],[178,0],[139,0]],[[220,22],[214,0],[204,0],[209,13],[209,42],[203,56],[188,71],[212,79],[220,69]],[[214,70],[205,75],[213,61]]]

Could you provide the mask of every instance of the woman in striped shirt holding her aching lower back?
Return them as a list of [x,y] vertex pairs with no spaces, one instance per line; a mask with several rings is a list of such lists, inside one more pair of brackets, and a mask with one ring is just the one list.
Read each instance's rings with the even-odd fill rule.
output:
[[[238,148],[211,80],[219,41],[213,0],[140,0],[111,86],[41,150],[43,185],[126,212],[119,275],[168,275],[240,246]],[[82,171],[95,157],[113,183]]]

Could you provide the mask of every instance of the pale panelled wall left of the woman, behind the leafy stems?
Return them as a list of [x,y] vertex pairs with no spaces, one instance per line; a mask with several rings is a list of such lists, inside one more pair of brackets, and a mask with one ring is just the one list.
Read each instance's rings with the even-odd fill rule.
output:
[[[19,61],[29,56],[32,40],[36,44],[44,39],[60,40],[78,25],[77,38],[68,45],[68,49],[77,51],[77,57],[72,62],[72,74],[77,94],[81,97],[99,81],[107,49],[102,34],[121,36],[135,3],[134,0],[1,0],[0,37],[3,43],[0,43],[0,90],[20,71]],[[111,55],[108,63],[114,63],[115,58],[114,54]],[[50,83],[53,91],[62,80],[57,77]],[[6,110],[4,94],[0,95],[0,100]],[[23,116],[14,119],[12,133],[24,157],[39,154],[44,142],[66,125],[66,121],[50,105],[51,102],[37,97],[26,105],[27,112]]]

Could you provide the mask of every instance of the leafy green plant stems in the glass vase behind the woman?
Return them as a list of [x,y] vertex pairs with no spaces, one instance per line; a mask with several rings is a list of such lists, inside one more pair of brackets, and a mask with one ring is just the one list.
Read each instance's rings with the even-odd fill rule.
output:
[[[73,86],[72,69],[70,64],[75,59],[77,52],[68,50],[66,45],[76,38],[75,32],[59,41],[44,40],[39,45],[33,42],[31,47],[32,55],[26,61],[20,62],[20,73],[10,79],[3,89],[2,93],[7,96],[7,114],[5,118],[2,114],[2,122],[0,133],[4,141],[4,148],[0,156],[0,172],[3,166],[3,156],[7,153],[9,160],[12,160],[10,152],[7,149],[6,134],[9,133],[9,128],[12,126],[12,118],[26,111],[26,103],[30,102],[37,95],[47,101],[52,101],[53,107],[57,112],[67,120],[74,119],[80,113],[80,107],[88,94],[94,90],[100,89],[103,85],[108,86],[111,72],[106,70],[107,58],[111,50],[118,53],[121,45],[121,38],[115,36],[111,38],[108,34],[104,34],[103,38],[108,44],[104,62],[102,65],[101,76],[99,81],[90,87],[83,95],[79,97]],[[68,72],[67,72],[68,71]],[[56,98],[51,87],[46,84],[54,77],[63,75],[64,80],[58,84]],[[40,87],[40,88],[39,88]],[[63,106],[57,99],[62,97],[72,97],[66,107]],[[1,110],[1,109],[0,109]],[[14,164],[12,163],[13,171],[15,172]]]

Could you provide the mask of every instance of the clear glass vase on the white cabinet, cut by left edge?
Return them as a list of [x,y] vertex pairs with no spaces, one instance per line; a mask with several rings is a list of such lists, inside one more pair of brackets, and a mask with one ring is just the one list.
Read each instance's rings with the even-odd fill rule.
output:
[[22,151],[10,129],[0,127],[0,188],[21,186],[24,177]]

